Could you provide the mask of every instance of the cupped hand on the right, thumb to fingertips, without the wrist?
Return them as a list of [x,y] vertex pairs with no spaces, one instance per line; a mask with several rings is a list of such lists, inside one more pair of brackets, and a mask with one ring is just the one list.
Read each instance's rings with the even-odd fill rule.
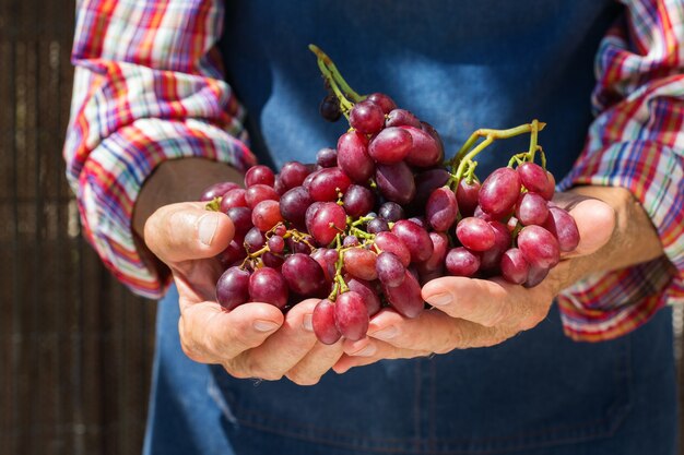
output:
[[341,373],[379,359],[493,346],[539,324],[561,290],[589,272],[587,259],[609,243],[616,227],[615,211],[605,202],[575,193],[557,194],[554,201],[575,218],[580,243],[539,285],[453,276],[431,280],[423,298],[433,309],[415,319],[384,309],[370,320],[367,337],[345,342],[345,355],[333,369]]

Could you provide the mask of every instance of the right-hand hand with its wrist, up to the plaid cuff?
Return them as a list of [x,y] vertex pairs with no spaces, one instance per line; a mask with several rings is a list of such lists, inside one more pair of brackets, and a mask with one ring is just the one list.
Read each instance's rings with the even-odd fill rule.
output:
[[539,324],[561,290],[589,273],[662,254],[648,217],[626,190],[585,187],[557,194],[555,202],[569,209],[581,240],[541,284],[528,289],[503,279],[434,279],[423,287],[433,310],[416,319],[382,310],[372,319],[368,337],[345,342],[346,355],[334,370],[499,344]]

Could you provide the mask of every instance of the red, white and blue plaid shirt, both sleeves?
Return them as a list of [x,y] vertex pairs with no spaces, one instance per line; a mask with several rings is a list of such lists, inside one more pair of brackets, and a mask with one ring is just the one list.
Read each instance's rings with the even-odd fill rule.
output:
[[[568,336],[610,339],[667,303],[684,301],[684,5],[622,0],[624,16],[597,56],[597,118],[559,189],[629,189],[665,255],[591,276],[558,297]],[[246,169],[244,112],[214,44],[223,2],[81,0],[64,157],[85,237],[131,290],[168,283],[135,249],[131,216],[144,180],[166,159],[201,156]]]

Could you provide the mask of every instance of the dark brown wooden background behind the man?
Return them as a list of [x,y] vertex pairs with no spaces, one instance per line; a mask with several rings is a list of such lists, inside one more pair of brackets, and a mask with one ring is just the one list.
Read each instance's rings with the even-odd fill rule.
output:
[[64,178],[73,9],[0,0],[1,454],[142,444],[155,304],[103,270]]

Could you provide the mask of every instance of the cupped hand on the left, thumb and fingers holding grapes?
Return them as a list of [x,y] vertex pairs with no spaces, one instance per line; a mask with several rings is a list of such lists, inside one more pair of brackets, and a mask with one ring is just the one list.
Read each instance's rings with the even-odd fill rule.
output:
[[148,248],[172,271],[178,288],[178,331],[192,360],[222,364],[236,378],[315,384],[342,356],[342,343],[317,342],[305,300],[285,315],[278,308],[251,302],[233,311],[215,301],[221,265],[215,259],[233,239],[231,219],[201,203],[165,205],[144,225]]

